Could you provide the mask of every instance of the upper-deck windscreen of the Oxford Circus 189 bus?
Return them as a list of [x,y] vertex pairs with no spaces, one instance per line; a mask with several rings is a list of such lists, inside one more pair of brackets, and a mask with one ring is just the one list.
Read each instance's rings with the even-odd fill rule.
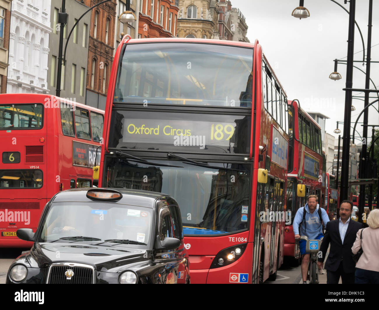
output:
[[127,44],[114,101],[251,107],[251,48],[199,43]]

